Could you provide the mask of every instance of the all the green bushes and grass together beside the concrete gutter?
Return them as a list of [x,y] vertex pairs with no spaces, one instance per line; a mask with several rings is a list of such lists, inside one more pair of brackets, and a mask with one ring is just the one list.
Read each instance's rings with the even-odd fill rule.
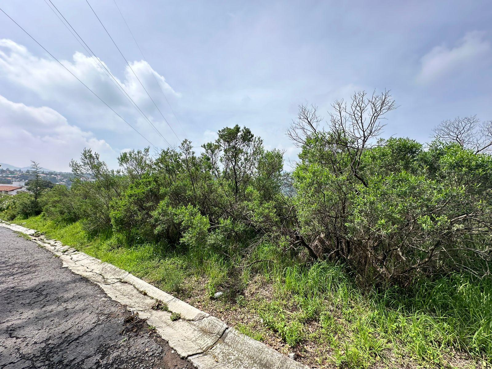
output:
[[[388,93],[334,107],[327,128],[300,108],[292,173],[249,129],[226,127],[201,155],[185,140],[123,153],[117,171],[84,150],[70,190],[40,189],[41,215],[22,210],[29,194],[0,199],[0,214],[315,367],[488,365],[488,126],[381,140]],[[457,126],[468,136],[446,133]]]

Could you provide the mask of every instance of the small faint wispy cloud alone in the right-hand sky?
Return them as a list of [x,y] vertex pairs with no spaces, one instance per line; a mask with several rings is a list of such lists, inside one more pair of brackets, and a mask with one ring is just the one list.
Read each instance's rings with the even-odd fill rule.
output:
[[435,46],[422,57],[417,81],[425,84],[453,73],[473,70],[474,65],[491,55],[491,43],[484,36],[484,32],[468,32],[453,48]]

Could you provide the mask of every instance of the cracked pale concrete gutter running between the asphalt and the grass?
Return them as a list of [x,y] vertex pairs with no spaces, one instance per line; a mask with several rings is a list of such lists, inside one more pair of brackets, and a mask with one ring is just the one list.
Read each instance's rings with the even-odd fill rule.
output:
[[[198,369],[308,369],[112,264],[64,246],[60,241],[37,236],[33,229],[3,221],[0,226],[29,235],[35,243],[60,257],[63,267],[99,285],[128,310],[138,312],[169,346]],[[166,303],[170,311],[154,310],[156,301]],[[181,319],[172,321],[171,312],[180,313]]]

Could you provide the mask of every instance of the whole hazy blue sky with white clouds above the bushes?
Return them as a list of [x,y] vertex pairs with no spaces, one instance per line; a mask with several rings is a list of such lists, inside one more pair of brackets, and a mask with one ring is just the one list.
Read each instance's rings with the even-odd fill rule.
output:
[[67,171],[87,147],[115,168],[149,142],[199,152],[235,124],[295,160],[298,106],[328,117],[360,90],[396,100],[383,137],[426,142],[442,120],[492,119],[488,0],[88,0],[121,53],[86,0],[51,1],[90,52],[46,1],[0,8],[73,75],[0,12],[0,162]]

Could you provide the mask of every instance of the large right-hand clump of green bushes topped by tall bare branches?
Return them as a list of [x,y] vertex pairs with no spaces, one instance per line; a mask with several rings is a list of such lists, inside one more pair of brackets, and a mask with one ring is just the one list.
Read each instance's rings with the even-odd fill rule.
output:
[[302,148],[293,172],[300,242],[365,283],[478,272],[492,253],[492,157],[466,141],[425,150],[377,140],[394,106],[387,92],[355,93],[349,106],[335,102],[326,130],[315,108],[300,108],[289,131]]

